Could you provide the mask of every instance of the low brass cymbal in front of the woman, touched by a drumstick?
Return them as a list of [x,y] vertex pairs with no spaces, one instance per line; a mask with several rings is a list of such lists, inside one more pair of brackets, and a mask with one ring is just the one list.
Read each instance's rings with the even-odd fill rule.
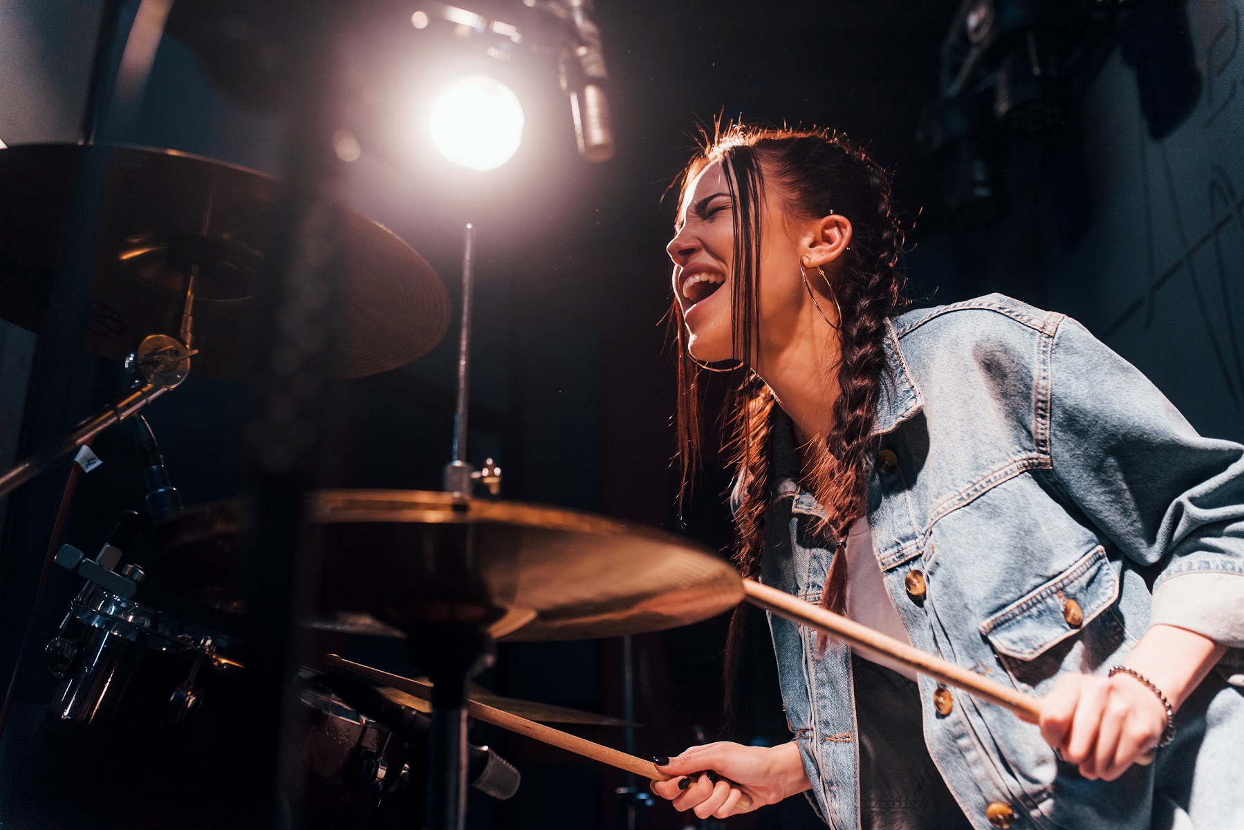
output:
[[[659,631],[743,599],[739,574],[669,533],[577,511],[401,490],[315,493],[322,528],[316,613],[369,614],[408,635],[438,622],[532,619],[504,640],[576,640]],[[151,570],[220,606],[240,593],[241,499],[159,526]]]

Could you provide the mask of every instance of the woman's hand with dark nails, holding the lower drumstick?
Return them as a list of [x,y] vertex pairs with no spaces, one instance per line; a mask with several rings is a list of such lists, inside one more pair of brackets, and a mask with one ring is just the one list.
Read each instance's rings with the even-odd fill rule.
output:
[[[674,809],[694,810],[702,819],[750,813],[812,787],[794,741],[780,747],[708,743],[690,747],[668,764],[658,763],[657,769],[674,778],[652,782],[652,791],[673,801]],[[744,793],[751,804],[740,809]]]

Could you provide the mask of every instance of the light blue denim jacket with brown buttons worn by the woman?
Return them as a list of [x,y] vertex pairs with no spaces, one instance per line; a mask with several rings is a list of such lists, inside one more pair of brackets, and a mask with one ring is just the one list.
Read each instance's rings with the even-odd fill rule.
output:
[[[898,317],[886,352],[873,434],[898,463],[870,473],[868,519],[914,646],[1034,695],[1061,672],[1105,673],[1156,622],[1233,646],[1176,742],[1112,783],[959,691],[938,716],[921,676],[924,741],[964,814],[982,830],[990,804],[1013,828],[1244,829],[1244,690],[1227,682],[1244,646],[1244,446],[1198,436],[1075,321],[1000,294]],[[780,471],[792,449],[773,450]],[[816,603],[833,555],[811,529],[821,507],[791,476],[771,487],[761,578]],[[904,589],[913,570],[921,600]],[[832,828],[857,830],[850,654],[817,656],[815,635],[780,618],[770,627],[811,796]]]

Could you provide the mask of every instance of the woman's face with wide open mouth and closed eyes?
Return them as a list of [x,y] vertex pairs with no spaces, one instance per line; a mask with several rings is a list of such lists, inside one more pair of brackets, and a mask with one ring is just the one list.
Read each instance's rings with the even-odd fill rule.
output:
[[[725,176],[725,168],[714,162],[692,180],[679,206],[678,231],[666,250],[674,261],[674,297],[683,312],[687,349],[692,357],[704,363],[744,359],[759,370],[765,357],[789,345],[800,329],[800,318],[809,306],[799,271],[800,257],[810,266],[829,261],[824,258],[826,246],[820,232],[825,220],[792,216],[780,184],[766,176],[760,206],[761,260],[756,297],[760,331],[753,338],[754,353],[738,355],[730,328],[734,212]],[[848,224],[847,229],[850,234]],[[830,258],[835,257],[836,253]],[[810,267],[809,273],[817,276],[815,267]],[[820,302],[825,308],[825,301]]]

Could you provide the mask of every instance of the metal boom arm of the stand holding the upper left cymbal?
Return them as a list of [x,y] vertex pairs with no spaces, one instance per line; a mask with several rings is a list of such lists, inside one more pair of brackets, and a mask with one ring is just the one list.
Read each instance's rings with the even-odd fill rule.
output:
[[185,380],[190,372],[190,355],[197,354],[190,348],[194,318],[190,314],[194,304],[194,275],[187,282],[185,306],[182,311],[180,339],[168,334],[149,334],[138,348],[126,358],[126,368],[134,378],[134,388],[108,405],[102,413],[93,415],[77,426],[57,444],[45,447],[15,465],[0,476],[0,497],[9,495],[51,466],[57,458],[93,439],[114,424],[132,417]]

